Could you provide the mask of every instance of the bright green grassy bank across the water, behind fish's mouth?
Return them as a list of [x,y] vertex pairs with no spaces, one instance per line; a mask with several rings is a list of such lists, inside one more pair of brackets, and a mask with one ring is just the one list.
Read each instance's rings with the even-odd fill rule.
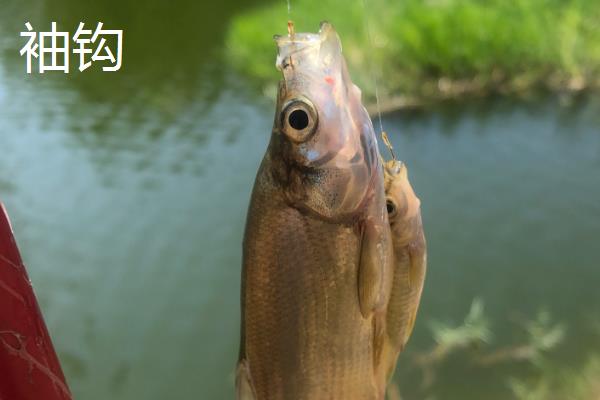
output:
[[[297,31],[322,19],[339,32],[352,76],[384,108],[444,97],[581,90],[600,81],[600,2],[589,0],[293,0]],[[278,80],[274,33],[286,32],[279,1],[233,19],[230,61],[262,84]],[[368,19],[372,43],[366,32]]]

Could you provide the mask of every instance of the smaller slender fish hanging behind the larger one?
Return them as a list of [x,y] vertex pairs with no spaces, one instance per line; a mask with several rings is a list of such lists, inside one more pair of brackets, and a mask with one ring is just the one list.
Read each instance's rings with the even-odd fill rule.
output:
[[410,184],[406,164],[395,157],[384,164],[384,187],[392,230],[394,269],[380,371],[385,374],[383,379],[389,382],[415,325],[427,271],[427,241],[421,201]]

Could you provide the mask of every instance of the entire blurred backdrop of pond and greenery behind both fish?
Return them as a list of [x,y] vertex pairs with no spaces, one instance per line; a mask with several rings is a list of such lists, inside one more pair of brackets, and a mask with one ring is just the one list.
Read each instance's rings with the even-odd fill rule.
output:
[[[290,6],[0,0],[0,199],[75,398],[233,397],[288,18],[337,27],[370,110],[378,77],[422,200],[429,271],[390,399],[598,398],[600,3]],[[123,66],[28,75],[27,21],[123,29]]]

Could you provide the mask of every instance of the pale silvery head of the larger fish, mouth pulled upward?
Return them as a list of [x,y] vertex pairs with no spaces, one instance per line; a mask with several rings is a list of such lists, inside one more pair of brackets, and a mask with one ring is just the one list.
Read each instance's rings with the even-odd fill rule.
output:
[[336,31],[276,36],[282,72],[272,158],[288,198],[335,218],[357,211],[381,174],[377,140]]

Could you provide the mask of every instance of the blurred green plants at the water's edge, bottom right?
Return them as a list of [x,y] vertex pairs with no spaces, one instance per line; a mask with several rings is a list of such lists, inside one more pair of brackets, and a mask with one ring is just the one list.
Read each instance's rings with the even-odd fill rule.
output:
[[[477,368],[504,365],[527,366],[528,373],[518,378],[512,372],[499,375],[505,382],[511,399],[516,400],[593,400],[600,398],[600,354],[590,351],[583,365],[565,367],[556,361],[554,351],[567,336],[566,326],[554,321],[550,313],[541,310],[531,320],[519,323],[524,336],[506,346],[494,345],[493,324],[484,312],[481,299],[475,299],[461,324],[432,321],[434,345],[419,352],[411,362],[422,374],[419,398],[433,398],[439,369],[449,358],[467,356]],[[600,332],[599,332],[600,333]],[[496,371],[502,371],[497,369]],[[402,399],[402,382],[392,382],[389,400]],[[433,397],[432,397],[433,396]]]

